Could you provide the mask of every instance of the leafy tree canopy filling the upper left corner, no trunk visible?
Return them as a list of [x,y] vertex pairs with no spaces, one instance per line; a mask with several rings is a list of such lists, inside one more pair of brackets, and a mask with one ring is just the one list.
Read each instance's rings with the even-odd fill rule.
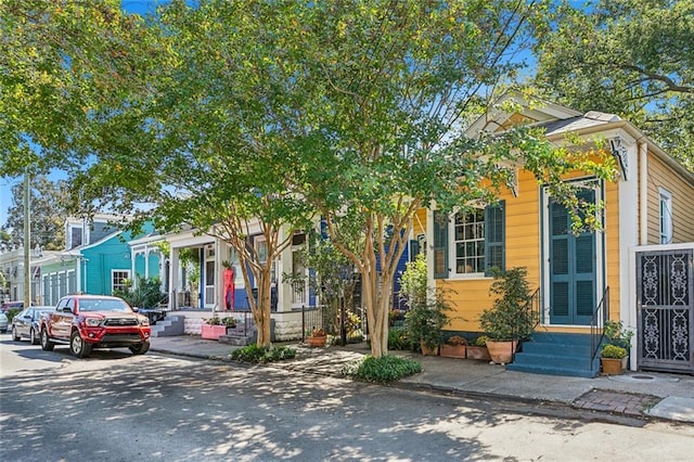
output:
[[143,88],[162,55],[156,31],[120,3],[0,2],[0,176],[79,167],[78,153],[110,142],[92,129]]

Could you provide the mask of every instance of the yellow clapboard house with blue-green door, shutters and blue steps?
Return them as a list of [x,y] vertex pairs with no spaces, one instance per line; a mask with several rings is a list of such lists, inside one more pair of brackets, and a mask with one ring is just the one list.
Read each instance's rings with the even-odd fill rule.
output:
[[[479,315],[492,305],[488,268],[526,267],[528,281],[537,290],[540,322],[534,345],[524,344],[509,369],[594,376],[600,369],[596,347],[591,346],[591,323],[593,333],[601,333],[599,307],[639,334],[634,248],[694,242],[694,175],[615,115],[582,114],[552,103],[535,107],[517,95],[507,98],[514,98],[522,110],[490,114],[471,131],[488,129],[491,120],[497,130],[515,124],[541,126],[557,144],[569,133],[589,143],[604,140],[619,165],[619,180],[605,182],[580,172],[567,179],[581,183],[583,198],[604,202],[599,217],[603,229],[573,234],[567,210],[520,167],[516,184],[503,192],[496,206],[454,213],[447,221],[435,220],[436,210],[417,216],[421,224],[415,226],[415,234],[423,234],[416,238],[427,243],[429,283],[451,290],[454,311],[449,334],[472,339],[481,334]],[[691,279],[691,257],[689,265]],[[691,305],[684,316],[689,317],[689,345],[681,347],[689,348],[690,363],[684,368],[694,370]],[[641,352],[642,341],[643,335],[634,336],[632,369],[640,367],[634,352]]]

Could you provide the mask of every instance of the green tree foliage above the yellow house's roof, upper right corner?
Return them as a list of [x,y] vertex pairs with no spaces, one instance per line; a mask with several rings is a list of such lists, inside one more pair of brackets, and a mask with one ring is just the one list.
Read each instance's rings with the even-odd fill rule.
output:
[[579,111],[617,114],[694,170],[694,1],[563,3],[538,29],[537,85]]

